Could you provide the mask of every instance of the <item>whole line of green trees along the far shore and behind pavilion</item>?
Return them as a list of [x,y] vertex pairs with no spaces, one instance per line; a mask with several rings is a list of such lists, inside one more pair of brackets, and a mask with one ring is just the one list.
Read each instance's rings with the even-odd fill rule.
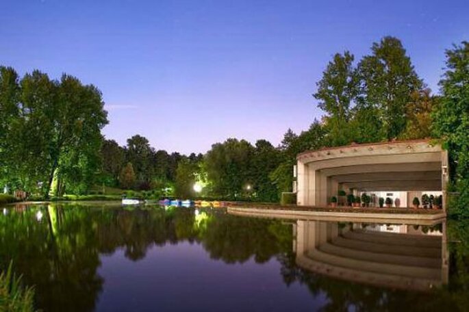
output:
[[205,155],[188,156],[156,151],[140,135],[126,146],[105,140],[107,116],[94,86],[68,75],[51,80],[37,70],[20,79],[12,68],[1,67],[0,182],[45,196],[107,185],[276,201],[292,190],[296,155],[307,149],[438,138],[450,151],[453,190],[467,207],[468,64],[468,42],[448,49],[440,92],[433,94],[401,41],[384,37],[360,60],[350,51],[333,55],[313,94],[325,114],[309,129],[299,134],[288,129],[279,146],[229,138]]

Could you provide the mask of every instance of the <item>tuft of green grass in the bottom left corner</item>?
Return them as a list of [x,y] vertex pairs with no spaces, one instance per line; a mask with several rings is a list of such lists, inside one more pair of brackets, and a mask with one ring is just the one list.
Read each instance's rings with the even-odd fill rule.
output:
[[14,274],[11,262],[0,274],[0,311],[34,311],[34,288],[21,285],[21,276]]

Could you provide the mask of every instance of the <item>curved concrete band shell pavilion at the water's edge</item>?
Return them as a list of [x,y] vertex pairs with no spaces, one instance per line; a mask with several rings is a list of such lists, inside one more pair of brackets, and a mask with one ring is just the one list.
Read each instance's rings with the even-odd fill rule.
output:
[[430,140],[322,148],[296,159],[298,205],[325,206],[338,190],[401,192],[403,206],[411,206],[411,198],[422,192],[442,192],[445,203],[448,153]]

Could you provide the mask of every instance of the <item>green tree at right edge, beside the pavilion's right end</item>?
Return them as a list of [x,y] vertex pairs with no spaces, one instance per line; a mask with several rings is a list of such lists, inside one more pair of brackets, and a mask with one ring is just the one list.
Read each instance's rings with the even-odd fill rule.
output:
[[457,212],[469,216],[469,42],[446,51],[446,72],[440,81],[433,130],[451,158],[451,178],[460,193]]

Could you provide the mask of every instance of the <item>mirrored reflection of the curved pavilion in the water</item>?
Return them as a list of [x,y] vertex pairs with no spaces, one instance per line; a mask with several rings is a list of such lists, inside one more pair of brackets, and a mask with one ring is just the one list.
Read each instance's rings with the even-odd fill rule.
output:
[[298,220],[301,268],[379,287],[427,291],[448,283],[446,222],[434,226]]

